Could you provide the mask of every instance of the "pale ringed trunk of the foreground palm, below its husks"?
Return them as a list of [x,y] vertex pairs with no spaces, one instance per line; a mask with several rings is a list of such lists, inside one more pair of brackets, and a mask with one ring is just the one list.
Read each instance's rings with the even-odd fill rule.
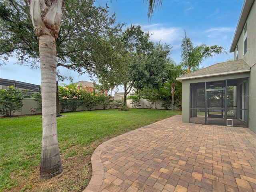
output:
[[42,79],[42,152],[40,178],[48,179],[62,172],[56,122],[56,44],[50,35],[39,37]]

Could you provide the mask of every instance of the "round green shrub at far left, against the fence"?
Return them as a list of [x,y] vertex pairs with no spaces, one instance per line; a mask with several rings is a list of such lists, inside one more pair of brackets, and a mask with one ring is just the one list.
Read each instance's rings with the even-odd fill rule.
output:
[[1,89],[0,90],[0,113],[5,117],[10,117],[15,111],[19,111],[22,107],[22,93],[19,93],[20,90],[14,88],[13,86],[9,87],[9,90]]

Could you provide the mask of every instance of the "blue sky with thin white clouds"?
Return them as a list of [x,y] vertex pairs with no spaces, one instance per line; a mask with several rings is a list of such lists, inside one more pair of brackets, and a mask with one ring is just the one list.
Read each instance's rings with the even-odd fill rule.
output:
[[[98,1],[97,4],[104,5],[107,1]],[[145,32],[153,34],[150,38],[153,42],[161,40],[162,43],[172,46],[170,57],[176,63],[180,62],[180,44],[186,35],[192,39],[194,45],[202,43],[207,45],[218,44],[227,49],[232,42],[236,24],[242,10],[244,1],[167,1],[162,2],[162,7],[154,11],[151,21],[147,18],[147,4],[139,0],[112,0],[108,1],[110,14],[117,14],[117,22],[139,24]],[[226,61],[232,57],[228,55],[217,55],[206,59],[202,66]],[[0,67],[0,77],[24,81],[27,83],[41,84],[40,69],[30,69],[28,66],[14,65],[16,59],[10,58],[7,65]],[[79,76],[73,71],[63,68],[60,72],[64,76],[72,76],[74,81],[90,81],[88,75]],[[69,83],[69,80],[64,81]],[[119,89],[122,91],[122,89]]]

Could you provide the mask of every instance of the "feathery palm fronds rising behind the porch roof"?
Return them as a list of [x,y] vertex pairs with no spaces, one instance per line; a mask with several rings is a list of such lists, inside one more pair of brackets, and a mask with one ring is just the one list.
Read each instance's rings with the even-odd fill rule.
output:
[[224,53],[227,54],[226,49],[218,45],[207,46],[206,44],[201,44],[194,47],[191,39],[187,38],[185,33],[181,44],[181,64],[184,67],[188,67],[188,73],[190,73],[190,70],[198,68],[204,59]]

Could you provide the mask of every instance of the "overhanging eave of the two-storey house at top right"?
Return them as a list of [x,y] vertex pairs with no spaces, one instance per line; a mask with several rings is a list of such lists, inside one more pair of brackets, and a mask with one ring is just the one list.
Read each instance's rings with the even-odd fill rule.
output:
[[243,5],[243,8],[242,8],[239,20],[238,20],[238,24],[236,26],[236,31],[235,31],[233,40],[232,40],[232,44],[230,46],[230,50],[229,50],[230,53],[234,52],[234,50],[236,48],[236,45],[237,45],[237,42],[239,40],[240,34],[241,34],[241,32],[244,28],[244,24],[246,22],[247,16],[250,12],[250,9],[251,9],[252,4],[254,3],[254,1],[255,0],[245,0],[244,1],[244,5]]

